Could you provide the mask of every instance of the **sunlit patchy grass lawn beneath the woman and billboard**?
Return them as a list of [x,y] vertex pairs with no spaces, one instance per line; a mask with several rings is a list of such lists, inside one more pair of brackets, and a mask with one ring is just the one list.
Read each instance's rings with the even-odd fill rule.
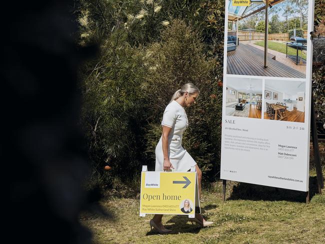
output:
[[[322,161],[324,148],[323,144]],[[312,168],[309,187],[311,200],[306,204],[301,191],[234,181],[227,181],[223,202],[221,181],[205,185],[201,210],[214,225],[200,228],[186,216],[165,215],[162,223],[173,230],[167,235],[150,230],[152,215],[139,217],[138,189],[124,197],[107,190],[99,204],[108,214],[83,212],[80,221],[92,230],[96,243],[325,243],[325,190],[315,194]]]

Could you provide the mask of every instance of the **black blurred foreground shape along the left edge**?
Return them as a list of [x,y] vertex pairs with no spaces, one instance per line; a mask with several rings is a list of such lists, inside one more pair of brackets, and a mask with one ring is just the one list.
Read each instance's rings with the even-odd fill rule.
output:
[[9,243],[91,242],[78,220],[89,169],[77,127],[77,69],[95,50],[77,48],[74,4],[2,6],[1,232]]

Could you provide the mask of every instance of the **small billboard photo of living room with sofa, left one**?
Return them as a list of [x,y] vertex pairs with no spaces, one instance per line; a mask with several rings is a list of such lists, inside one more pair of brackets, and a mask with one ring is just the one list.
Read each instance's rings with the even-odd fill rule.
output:
[[261,118],[262,79],[227,77],[225,100],[226,115]]

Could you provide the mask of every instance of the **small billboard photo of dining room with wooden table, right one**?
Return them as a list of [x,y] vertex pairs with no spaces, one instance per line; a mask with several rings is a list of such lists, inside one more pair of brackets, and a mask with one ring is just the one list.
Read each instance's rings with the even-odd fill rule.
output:
[[304,122],[305,82],[265,79],[264,119]]

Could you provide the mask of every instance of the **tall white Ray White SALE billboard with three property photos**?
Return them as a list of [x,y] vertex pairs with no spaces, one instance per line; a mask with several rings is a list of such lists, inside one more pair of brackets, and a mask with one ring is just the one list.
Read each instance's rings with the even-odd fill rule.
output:
[[313,4],[225,1],[221,179],[308,191]]

